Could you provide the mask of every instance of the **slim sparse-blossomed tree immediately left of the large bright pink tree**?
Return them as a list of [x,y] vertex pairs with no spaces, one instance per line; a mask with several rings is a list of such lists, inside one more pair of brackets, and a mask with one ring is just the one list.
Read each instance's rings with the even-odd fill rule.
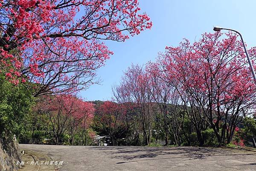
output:
[[[164,132],[165,143],[168,145],[169,133],[175,139],[175,144],[181,143],[181,123],[182,116],[180,115],[180,96],[176,88],[165,80],[165,75],[160,70],[156,63],[148,62],[146,71],[150,75],[150,84],[153,87],[153,99],[157,104],[156,117],[158,126]],[[163,123],[163,124],[161,124]]]

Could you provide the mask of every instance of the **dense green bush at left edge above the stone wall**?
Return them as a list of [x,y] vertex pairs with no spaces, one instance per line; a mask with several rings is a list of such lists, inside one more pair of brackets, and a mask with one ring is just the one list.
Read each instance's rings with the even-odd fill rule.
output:
[[0,75],[0,134],[19,136],[24,129],[25,116],[31,112],[34,98],[24,84],[15,86]]

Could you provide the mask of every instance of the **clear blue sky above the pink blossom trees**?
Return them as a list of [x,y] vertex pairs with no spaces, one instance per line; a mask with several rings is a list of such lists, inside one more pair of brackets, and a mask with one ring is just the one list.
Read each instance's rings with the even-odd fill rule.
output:
[[214,32],[213,26],[236,29],[247,45],[256,46],[255,0],[139,0],[141,12],[146,12],[153,27],[125,42],[106,44],[114,52],[97,75],[101,85],[81,91],[88,101],[108,100],[111,86],[118,84],[123,71],[133,64],[154,61],[166,46],[177,46],[183,38],[191,42],[204,32]]

